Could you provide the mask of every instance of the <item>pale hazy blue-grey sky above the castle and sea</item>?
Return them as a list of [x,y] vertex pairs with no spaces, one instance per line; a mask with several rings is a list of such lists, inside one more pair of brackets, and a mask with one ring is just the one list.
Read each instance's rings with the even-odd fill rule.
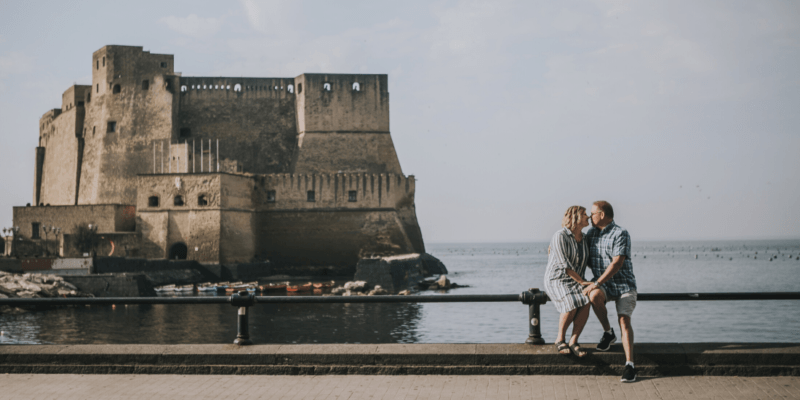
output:
[[634,241],[800,238],[800,2],[0,0],[0,226],[107,44],[184,76],[389,74],[427,242],[548,240],[599,199]]

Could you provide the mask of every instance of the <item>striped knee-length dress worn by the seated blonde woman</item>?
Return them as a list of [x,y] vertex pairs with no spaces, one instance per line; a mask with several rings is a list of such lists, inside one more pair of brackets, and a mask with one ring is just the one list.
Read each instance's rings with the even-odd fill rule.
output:
[[544,288],[558,312],[570,312],[589,304],[589,298],[581,292],[583,286],[567,275],[567,268],[570,268],[583,278],[588,255],[586,240],[578,243],[569,228],[556,232],[550,240]]

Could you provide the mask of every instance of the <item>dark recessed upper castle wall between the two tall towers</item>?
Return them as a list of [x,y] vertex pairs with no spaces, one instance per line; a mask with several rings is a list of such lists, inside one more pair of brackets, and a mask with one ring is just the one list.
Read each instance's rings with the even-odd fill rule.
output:
[[178,140],[195,144],[197,162],[200,141],[207,150],[211,139],[206,162],[216,158],[219,140],[221,162],[236,160],[243,172],[288,172],[297,142],[293,83],[291,78],[181,78]]

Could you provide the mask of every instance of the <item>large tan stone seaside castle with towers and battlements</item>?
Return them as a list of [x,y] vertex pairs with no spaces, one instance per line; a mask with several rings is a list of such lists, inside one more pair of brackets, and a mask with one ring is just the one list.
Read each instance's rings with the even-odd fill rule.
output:
[[183,77],[173,65],[142,47],[94,52],[92,84],[39,121],[33,202],[13,213],[19,251],[76,255],[89,225],[98,255],[149,259],[355,265],[425,251],[386,75]]

